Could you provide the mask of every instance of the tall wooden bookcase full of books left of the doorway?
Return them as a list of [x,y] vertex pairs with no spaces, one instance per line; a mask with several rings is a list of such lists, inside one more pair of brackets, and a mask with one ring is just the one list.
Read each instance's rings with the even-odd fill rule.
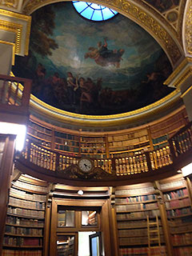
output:
[[42,256],[47,193],[45,185],[46,182],[25,175],[13,182],[2,255]]

